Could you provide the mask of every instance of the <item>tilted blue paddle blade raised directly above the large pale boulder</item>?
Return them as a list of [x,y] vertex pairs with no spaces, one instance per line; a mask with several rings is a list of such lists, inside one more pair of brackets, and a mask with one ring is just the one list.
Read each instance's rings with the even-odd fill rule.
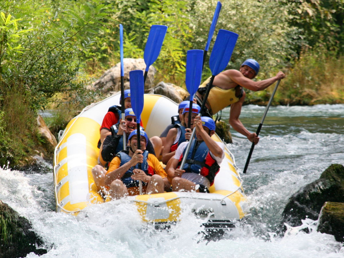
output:
[[143,59],[146,64],[146,71],[149,66],[157,60],[162,43],[166,35],[167,26],[165,25],[152,25],[149,31],[146,47],[144,48]]

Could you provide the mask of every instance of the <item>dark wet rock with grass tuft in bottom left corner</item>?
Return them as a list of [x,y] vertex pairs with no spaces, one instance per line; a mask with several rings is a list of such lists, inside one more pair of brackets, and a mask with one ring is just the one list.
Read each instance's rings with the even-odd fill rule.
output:
[[32,230],[31,223],[0,201],[0,257],[25,257],[30,252],[46,254],[42,239]]

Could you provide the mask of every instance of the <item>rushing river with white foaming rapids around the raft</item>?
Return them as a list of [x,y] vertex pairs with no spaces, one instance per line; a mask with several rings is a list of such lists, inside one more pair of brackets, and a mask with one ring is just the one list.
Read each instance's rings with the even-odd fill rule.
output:
[[[244,106],[240,119],[256,131],[264,110]],[[222,119],[228,115],[229,109],[223,110]],[[309,234],[296,228],[276,234],[288,198],[330,164],[344,164],[343,117],[344,105],[270,107],[247,174],[241,174],[249,214],[219,241],[202,241],[200,222],[187,213],[170,231],[156,231],[142,225],[122,201],[90,206],[76,217],[55,213],[49,169],[0,169],[0,200],[30,219],[49,247],[41,257],[344,257],[341,243],[316,232],[316,221],[304,221]],[[251,144],[235,131],[232,135],[228,147],[242,172]],[[52,169],[52,164],[46,166]]]

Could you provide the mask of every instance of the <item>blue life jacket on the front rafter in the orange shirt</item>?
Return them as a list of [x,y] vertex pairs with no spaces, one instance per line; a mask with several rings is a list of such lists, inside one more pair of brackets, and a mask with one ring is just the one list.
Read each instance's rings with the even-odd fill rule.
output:
[[[141,170],[144,171],[149,176],[154,175],[154,170],[148,165],[147,158],[148,158],[148,151],[143,151],[143,162],[141,163]],[[116,155],[120,160],[120,166],[127,163],[129,160],[131,160],[131,157],[129,156],[129,151],[120,151]],[[138,169],[139,165],[136,164],[135,166],[132,166],[130,169],[128,169],[127,172],[124,173],[124,175],[121,177],[121,181],[123,184],[129,188],[129,187],[135,187],[139,186],[139,180],[133,180],[131,179],[131,176],[134,174],[133,170]],[[147,183],[142,182],[142,185],[145,186]]]

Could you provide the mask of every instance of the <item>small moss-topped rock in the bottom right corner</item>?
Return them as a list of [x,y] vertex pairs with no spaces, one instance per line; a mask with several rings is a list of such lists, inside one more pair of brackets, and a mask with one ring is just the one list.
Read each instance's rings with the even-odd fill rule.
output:
[[319,215],[318,231],[344,242],[344,203],[326,202]]

